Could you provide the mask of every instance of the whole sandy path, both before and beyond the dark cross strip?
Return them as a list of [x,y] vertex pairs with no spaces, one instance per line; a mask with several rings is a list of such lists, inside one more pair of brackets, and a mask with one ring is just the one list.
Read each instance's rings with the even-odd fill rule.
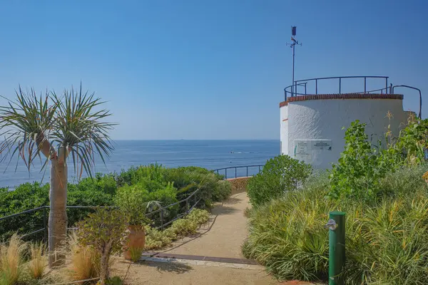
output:
[[[232,195],[228,200],[217,204],[212,209],[210,222],[202,227],[198,234],[175,242],[173,247],[160,252],[243,259],[240,247],[248,234],[247,218],[244,215],[248,205],[246,192]],[[144,260],[129,263],[121,259],[116,262],[112,274],[113,276],[126,276],[126,285],[308,284],[296,281],[279,283],[272,276],[267,276],[263,266],[259,265],[205,262],[192,260],[190,257],[187,260],[174,259],[174,261]]]

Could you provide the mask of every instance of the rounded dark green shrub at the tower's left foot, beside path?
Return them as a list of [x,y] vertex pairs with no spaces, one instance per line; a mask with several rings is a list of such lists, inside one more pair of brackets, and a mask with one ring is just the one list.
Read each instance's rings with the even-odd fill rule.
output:
[[267,160],[262,172],[248,180],[248,197],[253,207],[269,202],[295,190],[305,182],[312,167],[288,155],[279,155]]

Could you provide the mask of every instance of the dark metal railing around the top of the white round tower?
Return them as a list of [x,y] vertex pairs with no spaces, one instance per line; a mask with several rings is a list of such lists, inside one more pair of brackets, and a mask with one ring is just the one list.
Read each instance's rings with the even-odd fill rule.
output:
[[[385,93],[392,93],[392,86],[388,86],[388,76],[336,76],[336,77],[320,77],[320,78],[310,78],[310,79],[304,79],[304,80],[299,80],[299,81],[295,81],[292,85],[287,86],[284,89],[284,100],[287,100],[287,97],[290,95],[290,97],[294,97],[294,96],[298,96],[298,95],[307,95],[307,83],[311,82],[311,83],[315,83],[315,92],[312,91],[310,92],[310,94],[318,94],[318,81],[324,81],[324,80],[337,80],[337,87],[338,90],[337,92],[339,94],[342,94],[342,79],[347,79],[347,78],[360,78],[364,80],[364,91],[362,90],[362,88],[360,90],[356,90],[355,92],[352,93],[373,93],[373,92],[380,92],[381,94]],[[384,88],[379,88],[376,90],[367,90],[367,79],[372,79],[372,78],[376,78],[376,79],[382,79],[384,80]],[[298,88],[299,87],[304,87],[305,88],[305,93],[299,93]],[[313,89],[312,89],[313,90]]]

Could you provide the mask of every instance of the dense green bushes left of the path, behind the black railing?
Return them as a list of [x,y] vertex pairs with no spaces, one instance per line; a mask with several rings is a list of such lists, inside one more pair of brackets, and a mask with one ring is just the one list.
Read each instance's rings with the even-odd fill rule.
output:
[[[148,222],[143,217],[143,208],[146,202],[152,203],[151,209],[168,206],[185,199],[195,190],[200,189],[198,195],[190,199],[190,203],[201,198],[198,207],[205,207],[212,202],[220,201],[230,195],[230,185],[222,181],[221,175],[201,167],[178,167],[166,169],[161,165],[131,167],[120,174],[101,175],[83,178],[76,184],[68,184],[68,205],[81,206],[120,206],[130,209],[130,212],[140,213],[135,217]],[[9,192],[0,188],[0,217],[23,212],[28,209],[49,205],[49,184],[26,183]],[[124,208],[126,207],[126,208]],[[186,209],[182,202],[163,211],[163,223],[182,214]],[[132,208],[132,210],[131,210]],[[92,208],[68,208],[68,224],[73,227],[76,222],[93,212]],[[49,213],[49,209],[46,210]],[[128,211],[129,212],[129,211]],[[161,225],[161,213],[150,216],[154,226]],[[19,217],[0,221],[0,239],[11,237],[14,232],[26,234],[43,227],[43,211],[39,210]],[[41,239],[43,232],[34,239]]]

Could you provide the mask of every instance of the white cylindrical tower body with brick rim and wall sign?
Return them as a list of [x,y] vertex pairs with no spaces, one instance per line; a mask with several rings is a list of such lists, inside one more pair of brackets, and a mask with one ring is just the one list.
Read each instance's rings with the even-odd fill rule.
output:
[[398,135],[408,116],[402,100],[399,94],[369,93],[289,97],[280,103],[281,153],[315,169],[330,168],[344,150],[344,127],[354,120],[367,123],[366,133],[373,145],[385,141],[388,125]]

